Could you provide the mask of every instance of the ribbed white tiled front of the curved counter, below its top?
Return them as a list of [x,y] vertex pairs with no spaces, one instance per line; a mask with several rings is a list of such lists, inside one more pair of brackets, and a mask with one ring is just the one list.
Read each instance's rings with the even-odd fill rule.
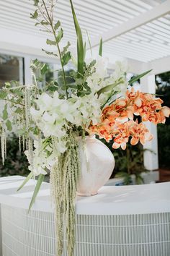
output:
[[[1,205],[1,222],[3,256],[55,256],[53,213]],[[77,216],[75,256],[169,255],[170,213]]]

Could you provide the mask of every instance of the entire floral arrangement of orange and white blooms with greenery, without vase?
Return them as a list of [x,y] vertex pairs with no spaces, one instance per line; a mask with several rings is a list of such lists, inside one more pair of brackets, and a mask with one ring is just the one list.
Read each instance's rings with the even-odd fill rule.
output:
[[[66,234],[68,255],[73,255],[75,244],[75,202],[76,184],[79,180],[78,137],[99,135],[109,141],[114,139],[113,148],[125,149],[131,137],[131,144],[142,144],[152,139],[152,135],[142,122],[133,121],[140,115],[142,121],[164,123],[170,110],[161,106],[161,99],[147,93],[127,90],[138,75],[126,80],[127,67],[116,63],[115,71],[108,76],[107,60],[102,58],[102,40],[99,43],[99,57],[86,60],[86,43],[70,0],[73,22],[77,35],[77,61],[68,51],[70,43],[61,47],[64,37],[61,22],[53,16],[56,0],[34,0],[35,12],[31,18],[53,39],[47,44],[56,47],[56,52],[45,51],[61,61],[61,76],[58,80],[39,88],[46,64],[37,59],[32,61],[32,85],[6,82],[0,90],[4,110],[0,119],[1,157],[6,158],[6,134],[15,132],[19,137],[19,149],[24,150],[29,161],[30,174],[19,187],[21,189],[32,177],[38,176],[30,208],[40,189],[45,174],[50,171],[50,183],[55,203],[56,255],[63,252],[63,236]],[[66,76],[68,61],[75,64],[74,70]],[[69,82],[68,78],[71,77]],[[125,93],[125,91],[127,92]],[[117,98],[120,94],[125,95]],[[29,209],[30,209],[29,208]],[[64,225],[63,225],[64,223]],[[63,228],[66,227],[66,230]]]

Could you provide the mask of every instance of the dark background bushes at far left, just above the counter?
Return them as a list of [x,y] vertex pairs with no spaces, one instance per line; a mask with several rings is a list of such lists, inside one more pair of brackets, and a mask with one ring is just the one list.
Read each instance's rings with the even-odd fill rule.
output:
[[4,166],[0,158],[0,176],[27,176],[27,174],[30,173],[28,170],[27,157],[24,153],[19,152],[19,143],[16,135],[7,137],[6,150],[8,154],[6,161],[4,161]]

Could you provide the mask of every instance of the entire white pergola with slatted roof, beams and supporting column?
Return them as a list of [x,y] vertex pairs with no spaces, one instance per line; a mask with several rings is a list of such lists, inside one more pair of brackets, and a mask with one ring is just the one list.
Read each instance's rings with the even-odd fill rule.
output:
[[[30,82],[30,55],[54,61],[40,51],[47,48],[47,34],[40,32],[30,19],[33,1],[0,0],[0,53],[24,56],[26,82]],[[104,42],[104,56],[111,69],[117,59],[126,59],[135,74],[153,69],[141,80],[145,92],[155,93],[155,74],[170,70],[170,0],[73,0],[79,23],[86,39],[97,54],[99,39]],[[55,18],[61,20],[64,41],[76,46],[76,35],[69,0],[58,0]],[[87,40],[88,43],[88,40]],[[74,50],[74,48],[72,49]],[[89,51],[90,56],[90,51]],[[146,168],[158,168],[156,126],[147,124],[154,135],[146,148]],[[150,161],[148,161],[148,159]]]

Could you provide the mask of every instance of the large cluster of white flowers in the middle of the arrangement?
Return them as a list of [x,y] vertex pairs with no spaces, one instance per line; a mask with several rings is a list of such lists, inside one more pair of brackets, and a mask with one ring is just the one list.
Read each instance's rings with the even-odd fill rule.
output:
[[[102,114],[101,106],[108,98],[108,92],[101,93],[100,95],[97,92],[121,78],[122,84],[125,87],[125,67],[117,63],[115,72],[111,77],[108,77],[107,59],[99,57],[92,69],[91,75],[86,79],[91,88],[89,95],[84,95],[83,97],[72,95],[72,98],[60,99],[58,92],[55,91],[52,96],[47,93],[42,93],[39,96],[35,102],[37,109],[31,108],[30,113],[44,137],[55,137],[56,150],[54,154],[49,148],[47,154],[47,150],[40,149],[43,143],[39,142],[37,145],[37,142],[35,142],[35,150],[33,152],[34,163],[33,165],[30,164],[30,171],[33,171],[35,175],[43,174],[43,170],[50,168],[53,163],[56,151],[58,153],[66,151],[68,141],[67,130],[71,124],[76,125],[76,127],[81,126],[82,129],[88,131],[91,123],[95,125],[99,122]],[[120,88],[118,89],[120,90]],[[29,158],[28,155],[27,157]]]

